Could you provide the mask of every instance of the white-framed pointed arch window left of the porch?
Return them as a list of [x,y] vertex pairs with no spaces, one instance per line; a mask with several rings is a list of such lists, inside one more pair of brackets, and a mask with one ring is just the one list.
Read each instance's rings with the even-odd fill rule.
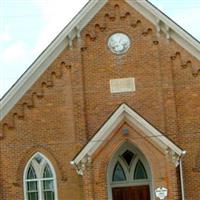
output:
[[36,153],[24,171],[25,200],[56,200],[54,169],[41,153]]

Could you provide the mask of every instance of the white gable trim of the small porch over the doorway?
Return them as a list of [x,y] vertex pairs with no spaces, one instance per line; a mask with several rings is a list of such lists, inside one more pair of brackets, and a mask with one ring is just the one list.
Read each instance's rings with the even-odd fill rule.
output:
[[85,158],[91,157],[93,153],[103,144],[106,138],[108,138],[112,131],[124,119],[128,119],[136,128],[141,130],[146,137],[149,137],[150,140],[154,141],[164,151],[170,149],[178,157],[181,157],[181,155],[185,154],[185,151],[165,137],[159,130],[153,127],[138,113],[136,113],[126,104],[122,104],[101,127],[96,135],[89,141],[89,143],[79,152],[74,160],[71,161],[71,164],[74,166],[79,166],[79,164]]

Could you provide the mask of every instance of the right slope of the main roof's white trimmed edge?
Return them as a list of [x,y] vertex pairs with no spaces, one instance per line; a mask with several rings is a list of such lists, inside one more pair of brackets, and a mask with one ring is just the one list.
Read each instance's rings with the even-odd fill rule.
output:
[[200,60],[200,42],[186,32],[171,18],[154,6],[148,0],[125,0],[130,6],[135,8],[140,14],[151,21],[157,31],[164,32],[167,39],[174,39],[180,46],[186,49],[197,60]]

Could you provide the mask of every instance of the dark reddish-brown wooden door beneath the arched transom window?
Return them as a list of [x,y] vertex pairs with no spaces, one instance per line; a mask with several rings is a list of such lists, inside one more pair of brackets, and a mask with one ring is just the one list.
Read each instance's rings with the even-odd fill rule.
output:
[[116,187],[112,189],[113,200],[150,200],[148,185]]

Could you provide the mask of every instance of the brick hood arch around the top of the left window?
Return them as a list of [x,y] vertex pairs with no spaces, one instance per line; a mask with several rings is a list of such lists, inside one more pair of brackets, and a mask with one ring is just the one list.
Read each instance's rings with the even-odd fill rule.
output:
[[54,166],[58,181],[63,181],[63,182],[67,181],[67,175],[66,175],[66,173],[64,173],[64,170],[62,169],[61,164],[56,159],[56,157],[53,155],[53,153],[50,152],[50,150],[47,148],[44,148],[41,146],[35,146],[33,148],[30,148],[22,157],[22,159],[18,165],[18,168],[16,170],[16,176],[15,176],[16,181],[13,183],[13,185],[15,185],[16,187],[22,187],[24,169],[25,169],[28,161],[30,160],[30,158],[37,152],[40,152],[45,157],[47,157],[48,160],[50,160],[50,162]]

